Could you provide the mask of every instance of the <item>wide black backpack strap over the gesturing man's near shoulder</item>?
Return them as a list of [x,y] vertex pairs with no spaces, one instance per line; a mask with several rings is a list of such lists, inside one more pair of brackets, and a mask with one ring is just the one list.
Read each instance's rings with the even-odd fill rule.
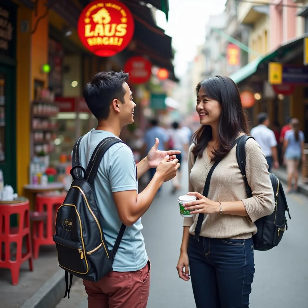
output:
[[87,165],[86,169],[86,175],[85,179],[89,182],[90,185],[93,184],[94,178],[96,176],[97,170],[99,168],[99,164],[104,156],[104,154],[107,152],[107,150],[116,143],[125,143],[124,141],[115,138],[115,137],[107,137],[103,139],[95,148],[90,162]]

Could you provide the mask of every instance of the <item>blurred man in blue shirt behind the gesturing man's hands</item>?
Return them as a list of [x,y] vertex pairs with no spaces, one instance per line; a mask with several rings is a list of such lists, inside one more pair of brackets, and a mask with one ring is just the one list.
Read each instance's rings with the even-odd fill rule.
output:
[[[158,120],[152,119],[150,120],[150,127],[144,134],[144,150],[143,152],[148,153],[150,148],[152,147],[152,144],[155,142],[155,139],[158,138],[161,142],[158,144],[158,150],[163,151],[165,147],[167,146],[168,141],[168,134],[164,130],[164,128],[161,128],[158,126]],[[150,168],[150,180],[152,180],[156,169]]]

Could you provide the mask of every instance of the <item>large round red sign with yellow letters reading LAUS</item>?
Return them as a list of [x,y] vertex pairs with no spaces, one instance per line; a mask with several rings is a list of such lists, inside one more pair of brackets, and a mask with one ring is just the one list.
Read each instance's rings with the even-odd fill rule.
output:
[[122,51],[132,40],[134,19],[120,1],[96,0],[82,10],[77,31],[89,51],[100,57],[110,57]]

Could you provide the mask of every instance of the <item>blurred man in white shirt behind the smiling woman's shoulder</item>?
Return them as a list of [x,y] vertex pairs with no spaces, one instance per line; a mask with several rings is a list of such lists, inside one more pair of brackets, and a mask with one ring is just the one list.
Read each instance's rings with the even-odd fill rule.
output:
[[274,132],[268,128],[270,119],[266,113],[258,115],[258,123],[259,125],[254,127],[250,134],[262,148],[270,172],[273,162],[274,168],[279,168],[277,141]]

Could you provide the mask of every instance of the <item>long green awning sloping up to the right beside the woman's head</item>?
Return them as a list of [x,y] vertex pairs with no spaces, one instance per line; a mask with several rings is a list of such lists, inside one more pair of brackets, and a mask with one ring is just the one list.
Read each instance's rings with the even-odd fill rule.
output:
[[298,39],[293,39],[285,44],[282,44],[278,47],[274,52],[266,56],[260,56],[248,63],[247,65],[241,67],[237,72],[231,74],[229,77],[235,82],[240,83],[244,79],[248,78],[249,76],[253,75],[260,64],[267,64],[270,61],[279,62],[281,61],[282,57],[287,55],[293,48],[299,47],[301,44],[303,45],[303,38],[302,36]]

